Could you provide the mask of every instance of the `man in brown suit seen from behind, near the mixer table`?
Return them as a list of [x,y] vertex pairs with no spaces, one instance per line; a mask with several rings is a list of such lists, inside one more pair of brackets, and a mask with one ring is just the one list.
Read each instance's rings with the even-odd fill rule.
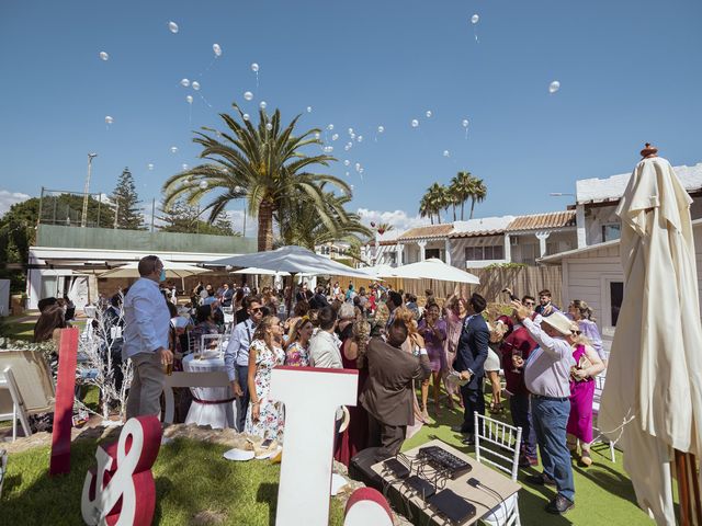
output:
[[421,348],[417,358],[399,348],[405,340],[407,327],[396,320],[388,328],[387,343],[374,338],[365,352],[369,379],[361,404],[369,412],[369,445],[381,446],[378,459],[399,453],[407,426],[415,423],[412,380],[431,375],[427,350]]

